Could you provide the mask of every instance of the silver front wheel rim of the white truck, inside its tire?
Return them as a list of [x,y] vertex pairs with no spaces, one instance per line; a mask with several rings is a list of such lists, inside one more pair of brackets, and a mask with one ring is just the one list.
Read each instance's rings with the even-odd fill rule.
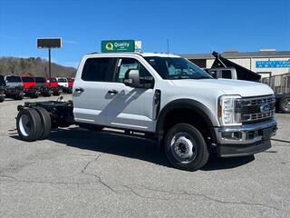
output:
[[189,163],[197,156],[197,143],[190,134],[175,134],[170,143],[171,152],[180,163]]

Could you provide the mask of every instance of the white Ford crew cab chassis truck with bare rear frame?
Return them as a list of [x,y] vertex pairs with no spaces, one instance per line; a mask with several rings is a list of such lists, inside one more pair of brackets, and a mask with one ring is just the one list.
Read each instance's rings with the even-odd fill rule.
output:
[[86,54],[73,101],[25,103],[18,111],[24,141],[70,124],[121,129],[155,140],[172,166],[188,171],[204,166],[210,153],[265,151],[276,131],[275,96],[266,84],[214,79],[175,54]]

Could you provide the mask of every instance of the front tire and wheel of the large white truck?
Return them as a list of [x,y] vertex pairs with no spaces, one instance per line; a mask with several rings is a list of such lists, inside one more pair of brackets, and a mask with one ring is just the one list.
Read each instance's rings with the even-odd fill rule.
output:
[[[206,141],[198,129],[190,124],[172,126],[166,135],[164,145],[169,163],[180,170],[197,171],[208,162]],[[186,158],[189,155],[190,158]]]

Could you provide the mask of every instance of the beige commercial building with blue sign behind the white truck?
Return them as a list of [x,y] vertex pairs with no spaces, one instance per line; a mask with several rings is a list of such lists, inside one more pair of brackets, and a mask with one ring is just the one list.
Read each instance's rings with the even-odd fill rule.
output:
[[[228,51],[221,53],[221,55],[257,74],[261,74],[262,77],[290,73],[290,51],[261,49],[258,52]],[[181,54],[181,56],[188,58],[202,68],[210,68],[215,61],[212,54]]]

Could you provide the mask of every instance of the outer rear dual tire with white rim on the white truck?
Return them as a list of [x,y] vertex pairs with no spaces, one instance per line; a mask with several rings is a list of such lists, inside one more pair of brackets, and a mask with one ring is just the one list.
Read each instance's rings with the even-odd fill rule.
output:
[[[24,124],[24,119],[27,120],[27,124]],[[26,108],[18,113],[16,127],[19,137],[26,142],[34,142],[42,134],[42,121],[34,108]]]

